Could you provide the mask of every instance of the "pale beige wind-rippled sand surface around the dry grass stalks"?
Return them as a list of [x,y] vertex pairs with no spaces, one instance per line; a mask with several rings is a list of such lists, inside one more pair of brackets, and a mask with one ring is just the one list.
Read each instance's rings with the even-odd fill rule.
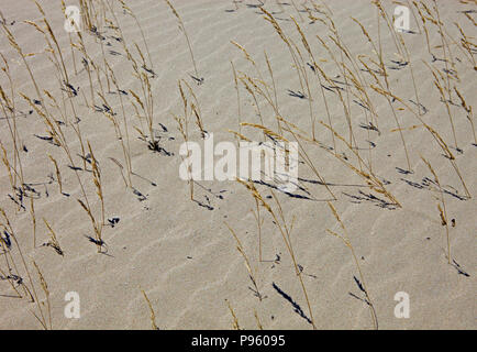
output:
[[[135,116],[131,94],[123,95],[132,167],[135,174],[132,176],[132,183],[136,193],[125,187],[119,167],[111,161],[115,158],[125,165],[121,142],[114,133],[113,124],[101,111],[91,108],[89,78],[80,64],[81,54],[78,50],[75,50],[77,74],[75,73],[68,34],[63,29],[64,15],[59,1],[40,3],[62,48],[70,82],[74,87],[79,87],[77,97],[68,97],[62,92],[57,80],[58,70],[48,58],[51,55],[44,52],[46,42],[43,35],[23,22],[27,20],[42,24],[43,15],[35,6],[26,0],[2,0],[0,4],[1,12],[7,19],[7,28],[18,44],[25,54],[35,54],[26,61],[41,91],[51,91],[62,109],[65,103],[64,109],[69,116],[70,123],[75,119],[69,100],[74,101],[80,119],[77,125],[80,127],[85,143],[90,142],[100,165],[106,218],[120,219],[114,228],[104,226],[102,240],[108,246],[108,253],[98,254],[96,245],[86,238],[95,237],[95,233],[88,215],[77,201],[82,199],[78,179],[68,167],[69,162],[64,151],[38,138],[47,136],[45,124],[37,112],[29,113],[33,109],[19,95],[22,92],[31,99],[37,99],[35,89],[19,54],[9,45],[5,36],[1,35],[0,52],[8,61],[13,82],[18,143],[21,145],[20,148],[24,145],[27,150],[20,151],[24,182],[36,190],[36,248],[33,248],[30,198],[23,198],[24,208],[20,209],[12,201],[9,195],[14,196],[14,193],[4,165],[0,168],[0,207],[5,210],[11,221],[38,299],[45,301],[43,312],[47,316],[47,305],[32,260],[38,265],[47,283],[54,329],[149,329],[149,308],[141,288],[151,300],[156,323],[160,329],[231,329],[233,318],[225,300],[233,308],[241,328],[256,329],[256,312],[264,329],[312,329],[308,321],[311,315],[290,254],[273,218],[264,207],[260,208],[263,262],[259,262],[258,229],[254,217],[256,208],[249,191],[236,182],[198,182],[195,186],[196,201],[190,200],[188,183],[179,178],[179,147],[182,136],[173,117],[184,116],[178,89],[178,80],[184,79],[197,96],[203,129],[213,133],[215,142],[235,142],[235,136],[229,130],[239,131],[240,119],[262,123],[254,100],[243,85],[240,85],[239,117],[231,62],[237,72],[246,73],[253,78],[259,77],[243,53],[231,44],[231,41],[235,41],[249,53],[268,89],[273,91],[264,51],[267,53],[274,73],[280,114],[303,130],[303,133],[311,135],[308,99],[292,97],[289,94],[289,90],[302,91],[290,52],[271,24],[264,20],[257,8],[259,2],[255,0],[239,1],[237,9],[231,1],[176,0],[174,6],[182,18],[189,35],[199,78],[204,78],[202,85],[197,85],[190,76],[195,75],[195,69],[186,38],[167,4],[156,0],[126,2],[141,23],[156,73],[156,77],[151,78],[154,98],[153,128],[163,148],[159,153],[153,152],[140,139],[134,127],[145,132],[147,128],[144,121],[141,122]],[[343,77],[337,77],[341,74],[339,67],[321,46],[317,35],[326,42],[339,62],[344,61],[350,67],[352,65],[333,44],[326,25],[320,21],[310,23],[308,13],[297,13],[291,2],[282,2],[279,7],[275,1],[268,0],[265,2],[265,9],[275,13],[286,35],[297,43],[304,62],[310,63],[299,33],[290,21],[290,15],[293,15],[307,35],[319,65],[329,77],[343,82]],[[301,3],[312,9],[311,1],[295,2],[300,9]],[[454,25],[454,22],[458,22],[469,42],[475,42],[475,26],[463,11],[470,10],[468,15],[476,21],[476,4],[472,1],[437,2],[441,21],[448,35],[456,42],[461,41],[461,33]],[[352,53],[355,63],[359,63],[356,59],[358,55],[368,55],[378,61],[359,26],[351,19],[353,16],[360,21],[377,45],[376,8],[369,1],[336,0],[315,3],[320,11],[330,13],[341,40]],[[432,11],[433,2],[425,3]],[[74,1],[68,1],[67,4],[74,4]],[[390,1],[384,1],[389,15],[392,15],[395,6]],[[97,11],[101,12],[100,6]],[[132,16],[121,11],[118,2],[114,11],[126,45],[138,59],[133,43],[137,43],[145,52],[141,30]],[[319,19],[326,19],[323,13],[314,10],[311,13]],[[415,9],[414,13],[417,14]],[[109,13],[107,18],[112,20]],[[448,75],[453,102],[448,106],[458,147],[462,150],[459,152],[455,148],[446,106],[434,86],[430,68],[425,65],[441,73],[444,78],[442,81],[446,82],[441,36],[434,24],[428,21],[426,25],[431,51],[436,61],[433,61],[428,52],[422,22],[419,22],[418,28],[412,13],[411,30],[414,33],[403,34],[411,56],[419,99],[426,108],[422,119],[433,130],[439,131],[448,144],[472,198],[466,197],[462,182],[432,134],[403,105],[395,101],[391,105],[401,127],[406,129],[403,136],[412,168],[412,172],[407,172],[409,167],[400,134],[392,131],[396,129],[392,110],[386,98],[373,91],[373,77],[364,70],[359,70],[359,75],[366,80],[365,89],[376,109],[379,133],[360,127],[367,123],[370,114],[355,102],[357,98],[352,92],[356,92],[356,89],[340,82],[336,85],[341,87],[344,103],[348,107],[360,157],[364,163],[371,161],[374,174],[384,182],[402,207],[392,205],[382,194],[370,189],[362,177],[334,157],[333,152],[326,152],[310,142],[302,143],[307,155],[335,195],[336,199],[332,200],[332,204],[346,227],[379,328],[475,329],[477,146],[473,144],[475,141],[467,119],[468,113],[459,106],[461,101],[453,87],[457,87],[467,106],[477,107],[476,70],[472,55],[457,43],[448,43],[451,55],[446,51],[445,57],[452,57],[455,64],[453,69],[456,72]],[[126,92],[130,89],[140,92],[140,80],[133,75],[122,44],[113,38],[113,30],[106,26],[98,30],[104,36],[102,42],[106,58],[115,73],[119,86]],[[410,102],[415,101],[410,65],[399,67],[392,62],[399,61],[399,57],[395,55],[395,42],[382,20],[379,32],[390,89],[395,96],[417,111],[417,106]],[[87,43],[88,54],[103,69],[101,40],[95,40],[86,30],[81,33]],[[76,34],[71,37],[75,43],[78,42]],[[110,46],[107,43],[110,43]],[[447,65],[451,67],[451,59]],[[360,65],[358,68],[364,69],[364,66]],[[318,80],[309,66],[306,66],[306,70],[313,97],[315,139],[323,146],[333,146],[330,131],[318,122],[328,123]],[[458,78],[455,78],[456,75]],[[124,129],[119,95],[108,92],[102,74],[100,79],[106,91],[104,98],[117,113],[121,129]],[[384,82],[382,76],[379,76],[379,79]],[[101,86],[96,74],[92,82],[96,105],[101,107],[102,102],[98,96]],[[0,73],[0,85],[11,97],[11,85],[4,73]],[[347,141],[348,125],[336,89],[325,89],[324,95],[333,127]],[[185,90],[188,92],[187,88]],[[65,97],[65,101],[62,97]],[[190,94],[188,97],[190,98]],[[258,95],[257,100],[263,124],[277,132],[277,122],[270,105]],[[190,98],[190,101],[193,99]],[[48,110],[54,119],[63,121],[58,110],[52,106],[48,106]],[[8,112],[8,117],[13,123],[12,113]],[[10,163],[13,164],[13,143],[7,121],[3,110],[0,111],[0,141],[5,147]],[[198,128],[192,119],[190,121],[190,140],[202,144]],[[414,125],[418,127],[412,129]],[[79,157],[80,143],[73,127],[66,124],[62,128],[74,162],[82,167]],[[242,127],[242,133],[254,141],[264,140],[264,134],[257,133],[253,128]],[[288,132],[284,132],[284,136],[292,140]],[[358,167],[359,163],[354,153],[339,140],[336,151],[345,153],[347,161]],[[59,194],[55,168],[48,154],[58,163],[63,188],[69,197]],[[443,189],[454,261],[452,265],[446,258],[446,228],[442,226],[437,210],[441,194],[439,187],[431,182],[434,177],[421,156],[432,164]],[[91,165],[87,166],[91,170]],[[19,166],[16,167],[19,169]],[[100,202],[96,196],[92,174],[82,169],[78,174],[85,184],[92,212],[100,219]],[[331,200],[331,195],[303,163],[299,166],[299,177],[302,189],[292,195],[276,189],[274,193],[280,201],[287,226],[290,227],[292,223],[290,241],[307,288],[314,324],[319,329],[373,329],[369,306],[365,301],[367,298],[354,278],[363,280],[352,253],[340,239],[326,232],[326,229],[330,229],[343,234],[326,202]],[[273,185],[256,184],[256,187],[278,213],[276,202],[267,198],[274,189]],[[33,194],[30,191],[27,195]],[[54,229],[64,256],[58,255],[53,248],[41,245],[48,241],[48,231],[43,219]],[[455,219],[455,227],[451,224],[451,219]],[[279,221],[282,222],[282,219],[279,218]],[[0,223],[4,222],[4,219],[0,219]],[[253,283],[244,265],[244,258],[236,250],[236,242],[224,222],[234,229],[242,242],[263,296],[262,300],[251,289]],[[32,290],[32,283],[22,264],[19,248],[13,243],[9,251],[11,256],[2,251],[0,268],[8,273],[10,258],[13,257],[18,270],[12,268],[10,273],[22,277]],[[19,290],[23,293],[21,287]],[[67,319],[64,315],[67,305],[65,295],[68,292],[76,292],[80,297],[79,319]],[[398,292],[409,294],[408,319],[395,317],[398,301],[393,298]],[[32,314],[34,311],[40,315],[37,306],[25,295],[23,298],[12,297],[15,293],[4,277],[0,282],[0,294],[1,329],[42,328]],[[296,304],[295,307],[290,300]],[[297,307],[302,310],[302,316]]]

